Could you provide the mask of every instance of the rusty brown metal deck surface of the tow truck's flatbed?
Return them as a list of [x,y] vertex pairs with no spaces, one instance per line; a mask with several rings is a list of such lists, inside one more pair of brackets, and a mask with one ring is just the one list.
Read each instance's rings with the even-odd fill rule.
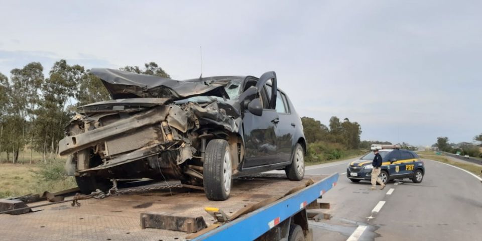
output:
[[[318,183],[319,188],[323,188],[323,191],[311,188],[313,189],[310,190],[311,196],[317,195],[313,192],[321,195],[325,190],[327,191],[336,184],[337,178],[338,174],[305,176],[305,179],[301,181],[289,181],[285,175],[277,174],[239,178],[234,180],[230,198],[226,201],[209,201],[202,191],[190,190],[187,192],[186,189],[172,189],[171,191],[137,195],[111,196],[105,199],[81,200],[80,207],[72,207],[69,202],[59,203],[36,208],[33,209],[34,212],[22,215],[0,214],[0,239],[185,240],[186,236],[189,235],[185,232],[154,228],[142,229],[140,225],[141,213],[155,211],[177,216],[202,216],[209,226],[214,222],[214,219],[204,211],[204,207],[217,207],[230,215],[266,199],[282,197],[288,191],[304,186],[309,179],[312,179],[315,184]],[[290,201],[289,196],[283,199]],[[29,206],[41,203],[31,203]],[[276,212],[276,209],[273,210]],[[283,216],[282,212],[280,210],[280,215]],[[282,220],[284,219],[282,218]],[[230,225],[230,228],[232,228],[234,221],[225,225]],[[266,223],[266,226],[268,227],[268,223]],[[217,229],[226,229],[221,227]],[[201,237],[209,237],[209,235],[205,234]]]

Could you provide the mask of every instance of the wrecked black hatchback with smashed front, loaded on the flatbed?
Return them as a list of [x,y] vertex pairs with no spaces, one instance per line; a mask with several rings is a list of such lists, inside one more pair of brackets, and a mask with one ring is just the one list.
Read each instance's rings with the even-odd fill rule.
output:
[[285,170],[304,176],[301,119],[276,73],[185,81],[91,70],[111,100],[87,104],[66,127],[59,154],[83,193],[111,179],[180,180],[210,200],[229,197],[233,177]]

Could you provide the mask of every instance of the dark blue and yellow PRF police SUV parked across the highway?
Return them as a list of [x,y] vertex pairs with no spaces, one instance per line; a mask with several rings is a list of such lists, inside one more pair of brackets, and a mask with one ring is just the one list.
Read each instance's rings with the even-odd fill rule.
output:
[[[415,183],[422,182],[425,167],[422,159],[415,152],[392,145],[379,145],[376,148],[379,149],[378,153],[382,156],[380,178],[385,184],[389,180],[404,178],[409,178]],[[346,177],[352,182],[370,181],[374,157],[375,154],[370,152],[359,160],[349,163],[346,167]]]

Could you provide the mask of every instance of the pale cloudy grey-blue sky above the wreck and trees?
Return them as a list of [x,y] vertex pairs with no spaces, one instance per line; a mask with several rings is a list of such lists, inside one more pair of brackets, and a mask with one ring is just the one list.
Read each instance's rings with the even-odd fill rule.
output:
[[301,116],[362,140],[482,133],[480,1],[3,1],[0,72],[158,63],[173,79],[261,76]]

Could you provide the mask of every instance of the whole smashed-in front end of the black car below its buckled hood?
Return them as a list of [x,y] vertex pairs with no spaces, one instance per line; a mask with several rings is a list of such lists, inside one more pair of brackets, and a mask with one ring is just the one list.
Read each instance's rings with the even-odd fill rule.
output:
[[[89,105],[72,118],[66,138],[59,143],[59,153],[70,155],[69,174],[199,184],[202,139],[238,132],[240,116],[217,100],[182,104],[160,104],[156,98],[143,98],[145,103],[129,100],[122,105],[119,100]],[[229,115],[220,106],[228,107]]]

